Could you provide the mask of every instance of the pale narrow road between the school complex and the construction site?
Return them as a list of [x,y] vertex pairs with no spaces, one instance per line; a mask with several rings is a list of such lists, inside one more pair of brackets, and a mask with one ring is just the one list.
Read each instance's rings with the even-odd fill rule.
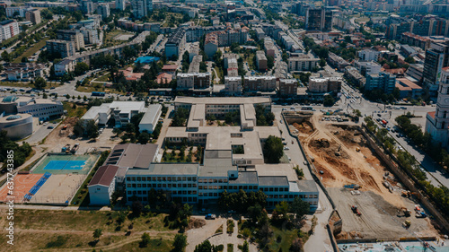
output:
[[[282,120],[281,111],[282,109],[279,107],[272,109],[272,112],[275,114],[278,122]],[[290,150],[287,150],[285,152],[286,155],[291,158],[291,163],[299,165],[299,167],[304,171],[304,178],[312,180],[313,178],[309,169],[307,169],[307,167],[304,165],[304,155],[299,148],[299,143],[297,142],[296,138],[288,134],[285,122],[279,124],[278,127],[282,131],[282,136],[286,138],[287,146],[290,148]],[[294,144],[292,144],[292,141]],[[304,251],[332,251],[330,238],[328,235],[328,231],[326,230],[326,224],[328,223],[330,213],[332,212],[332,205],[330,204],[330,201],[328,200],[326,195],[324,195],[321,187],[318,187],[318,190],[320,192],[319,207],[321,208],[321,213],[315,213],[315,216],[318,218],[318,224],[315,227],[313,235],[305,243]],[[307,215],[307,219],[311,220],[312,216],[313,215],[311,214]]]

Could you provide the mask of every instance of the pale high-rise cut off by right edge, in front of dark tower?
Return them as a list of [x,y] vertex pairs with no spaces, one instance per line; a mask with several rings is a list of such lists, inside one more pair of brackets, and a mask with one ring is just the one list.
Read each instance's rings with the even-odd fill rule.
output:
[[427,112],[426,132],[445,148],[449,145],[449,67],[442,69],[436,111]]

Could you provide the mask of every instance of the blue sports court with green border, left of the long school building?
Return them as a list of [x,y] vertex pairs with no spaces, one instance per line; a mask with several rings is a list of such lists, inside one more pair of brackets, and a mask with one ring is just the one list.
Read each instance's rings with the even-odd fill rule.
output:
[[92,169],[97,158],[97,155],[48,155],[31,169],[31,173],[85,175]]

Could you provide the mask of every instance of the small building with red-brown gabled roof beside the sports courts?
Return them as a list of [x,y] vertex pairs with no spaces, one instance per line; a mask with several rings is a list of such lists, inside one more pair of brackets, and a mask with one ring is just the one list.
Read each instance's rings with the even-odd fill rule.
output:
[[87,186],[92,205],[109,205],[110,198],[115,191],[115,176],[119,170],[118,166],[101,166],[91,182]]

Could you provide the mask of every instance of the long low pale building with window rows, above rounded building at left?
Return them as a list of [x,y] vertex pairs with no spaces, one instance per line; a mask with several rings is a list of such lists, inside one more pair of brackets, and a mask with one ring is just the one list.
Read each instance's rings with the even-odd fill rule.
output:
[[0,114],[31,114],[40,121],[61,117],[64,114],[59,100],[40,99],[25,96],[7,96],[0,102]]

